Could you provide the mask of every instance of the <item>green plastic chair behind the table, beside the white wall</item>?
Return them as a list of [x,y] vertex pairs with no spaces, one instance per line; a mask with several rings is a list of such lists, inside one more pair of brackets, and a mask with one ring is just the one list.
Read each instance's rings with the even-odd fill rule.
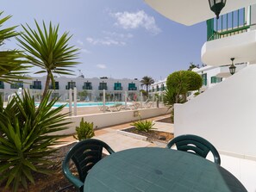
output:
[[176,145],[178,151],[190,152],[202,158],[206,158],[208,153],[212,152],[215,164],[221,165],[221,157],[219,152],[215,149],[215,146],[202,137],[193,134],[180,135],[172,139],[167,144],[166,148],[171,149],[173,145]]

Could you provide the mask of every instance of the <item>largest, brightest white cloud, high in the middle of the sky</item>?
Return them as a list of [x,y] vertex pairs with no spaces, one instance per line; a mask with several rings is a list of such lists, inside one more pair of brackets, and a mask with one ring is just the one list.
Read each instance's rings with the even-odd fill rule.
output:
[[125,29],[134,29],[134,28],[146,28],[147,31],[152,34],[159,34],[161,29],[156,25],[153,16],[147,15],[144,10],[139,10],[135,13],[124,11],[112,13],[117,22],[117,26],[120,26]]

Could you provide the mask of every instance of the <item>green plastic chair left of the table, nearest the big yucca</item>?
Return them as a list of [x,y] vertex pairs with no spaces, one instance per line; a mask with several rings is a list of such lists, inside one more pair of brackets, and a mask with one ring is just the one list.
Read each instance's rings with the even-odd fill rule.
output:
[[[79,141],[75,146],[72,146],[69,152],[67,152],[62,164],[62,170],[65,177],[78,189],[78,191],[83,191],[84,180],[89,170],[103,158],[103,148],[105,148],[109,154],[114,153],[110,146],[98,139],[85,139]],[[76,165],[79,178],[75,177],[70,170],[69,163],[71,160]]]

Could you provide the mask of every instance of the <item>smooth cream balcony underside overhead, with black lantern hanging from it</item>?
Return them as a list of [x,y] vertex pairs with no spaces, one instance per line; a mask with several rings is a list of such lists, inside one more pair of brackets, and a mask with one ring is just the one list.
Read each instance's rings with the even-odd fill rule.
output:
[[[207,0],[145,0],[153,9],[168,19],[190,26],[215,17]],[[256,0],[227,0],[222,14],[255,4]]]

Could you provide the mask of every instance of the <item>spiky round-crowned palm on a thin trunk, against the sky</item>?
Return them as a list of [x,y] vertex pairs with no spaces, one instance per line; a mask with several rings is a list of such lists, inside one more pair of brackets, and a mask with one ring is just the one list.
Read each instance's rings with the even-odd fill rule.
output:
[[29,63],[41,68],[41,71],[36,73],[47,73],[43,99],[47,95],[50,82],[54,86],[53,73],[72,75],[72,70],[67,68],[78,64],[74,61],[78,59],[78,48],[68,45],[72,36],[69,36],[67,32],[58,38],[59,24],[57,27],[53,27],[50,22],[47,30],[46,24],[43,22],[43,30],[41,30],[38,23],[34,22],[37,31],[30,28],[28,24],[27,28],[22,25],[25,33],[21,34],[22,39],[17,38],[17,40],[20,46],[28,52],[26,58]]

